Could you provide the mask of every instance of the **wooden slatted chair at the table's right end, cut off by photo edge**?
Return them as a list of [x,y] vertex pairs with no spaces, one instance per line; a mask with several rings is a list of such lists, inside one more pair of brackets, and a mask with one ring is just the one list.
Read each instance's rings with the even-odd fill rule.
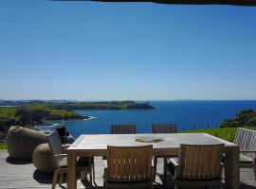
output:
[[240,167],[253,168],[256,180],[256,131],[237,129],[234,144],[240,146]]

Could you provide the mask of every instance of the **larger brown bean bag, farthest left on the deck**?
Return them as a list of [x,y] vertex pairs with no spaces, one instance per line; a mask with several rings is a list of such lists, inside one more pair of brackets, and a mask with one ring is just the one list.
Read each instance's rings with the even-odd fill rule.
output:
[[46,133],[34,129],[12,126],[8,130],[8,151],[11,158],[32,160],[34,149],[46,143]]

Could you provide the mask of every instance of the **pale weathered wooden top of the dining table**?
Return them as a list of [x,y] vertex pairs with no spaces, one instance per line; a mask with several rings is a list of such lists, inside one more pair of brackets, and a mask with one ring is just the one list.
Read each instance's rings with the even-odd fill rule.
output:
[[[159,142],[137,142],[137,139],[160,139]],[[86,134],[81,135],[67,151],[92,152],[95,155],[105,154],[107,146],[145,146],[153,145],[155,154],[163,150],[178,149],[180,144],[213,145],[224,144],[226,147],[236,146],[233,143],[214,137],[207,133],[168,133],[168,134]],[[161,153],[159,152],[161,151]],[[174,151],[177,153],[177,151]]]

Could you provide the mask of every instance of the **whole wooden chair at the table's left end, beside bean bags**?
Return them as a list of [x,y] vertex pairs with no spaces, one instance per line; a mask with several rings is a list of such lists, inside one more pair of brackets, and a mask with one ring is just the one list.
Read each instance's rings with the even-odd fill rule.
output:
[[[46,136],[48,145],[52,152],[52,161],[54,165],[54,173],[51,188],[54,189],[60,175],[59,185],[63,181],[64,174],[67,174],[67,156],[62,147],[62,142],[57,131],[51,132]],[[90,181],[92,182],[92,158],[80,158],[77,162],[77,171],[86,171],[90,173]],[[87,175],[87,174],[86,174]]]

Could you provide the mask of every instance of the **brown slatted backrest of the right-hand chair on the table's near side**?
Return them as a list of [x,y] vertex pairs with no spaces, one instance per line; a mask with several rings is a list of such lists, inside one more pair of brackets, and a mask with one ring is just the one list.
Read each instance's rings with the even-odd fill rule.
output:
[[220,179],[223,144],[180,145],[177,178]]

